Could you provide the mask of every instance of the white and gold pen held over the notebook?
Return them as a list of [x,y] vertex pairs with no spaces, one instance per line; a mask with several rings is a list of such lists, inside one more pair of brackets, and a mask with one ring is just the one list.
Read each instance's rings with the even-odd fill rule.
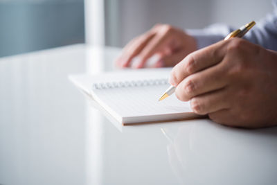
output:
[[[255,24],[256,24],[255,21],[251,21],[249,24],[245,24],[244,26],[240,27],[238,30],[234,30],[233,32],[229,33],[229,35],[227,35],[224,38],[224,40],[230,39],[232,37],[243,37],[243,35],[245,35],[245,33],[247,33]],[[159,98],[159,101],[165,98],[168,98],[168,96],[170,96],[175,92],[175,89],[176,87],[172,85],[168,87],[168,89],[166,89],[166,92],[163,94],[163,96]]]

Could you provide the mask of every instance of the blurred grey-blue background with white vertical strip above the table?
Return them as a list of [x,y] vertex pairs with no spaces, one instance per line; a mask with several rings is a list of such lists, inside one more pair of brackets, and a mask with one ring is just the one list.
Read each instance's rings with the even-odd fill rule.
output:
[[270,0],[0,0],[0,57],[76,43],[123,47],[154,24],[240,27]]

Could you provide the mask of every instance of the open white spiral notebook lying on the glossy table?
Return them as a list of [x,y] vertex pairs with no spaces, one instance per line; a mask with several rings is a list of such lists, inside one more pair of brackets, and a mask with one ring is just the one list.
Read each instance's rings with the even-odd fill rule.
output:
[[169,74],[170,69],[129,69],[69,78],[123,125],[199,117],[175,95],[158,101]]

